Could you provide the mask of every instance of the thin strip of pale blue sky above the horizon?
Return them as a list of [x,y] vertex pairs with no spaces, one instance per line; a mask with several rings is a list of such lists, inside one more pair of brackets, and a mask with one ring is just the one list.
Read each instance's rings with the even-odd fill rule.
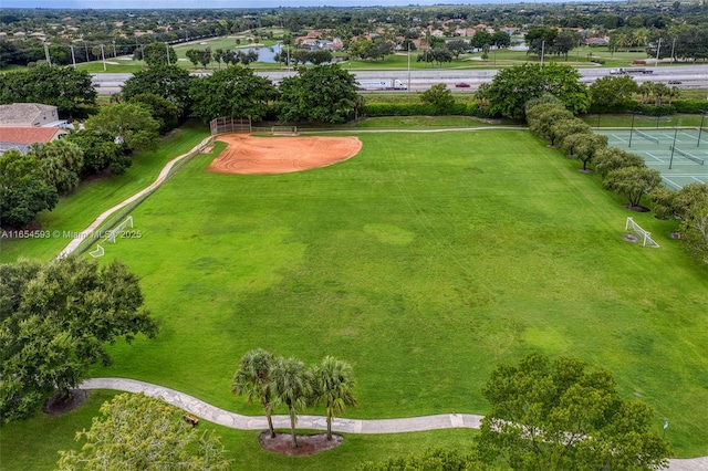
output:
[[[563,0],[544,0],[553,3]],[[571,0],[573,1],[573,0]],[[576,0],[580,1],[580,0]],[[535,1],[534,1],[535,2]],[[94,9],[94,10],[164,10],[164,9],[223,9],[223,8],[298,8],[298,7],[406,7],[412,4],[490,4],[524,3],[520,0],[0,0],[0,7],[44,9]],[[530,3],[525,1],[525,3]]]

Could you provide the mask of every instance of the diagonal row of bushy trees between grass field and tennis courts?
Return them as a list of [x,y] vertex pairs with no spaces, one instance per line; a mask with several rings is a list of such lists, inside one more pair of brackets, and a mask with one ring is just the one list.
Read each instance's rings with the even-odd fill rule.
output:
[[624,197],[628,207],[642,208],[648,197],[657,217],[677,219],[686,249],[708,263],[708,184],[691,184],[677,191],[660,186],[658,170],[648,168],[636,154],[607,147],[606,136],[594,134],[552,95],[529,101],[527,121],[538,136],[582,161],[583,170],[592,165],[603,187]]

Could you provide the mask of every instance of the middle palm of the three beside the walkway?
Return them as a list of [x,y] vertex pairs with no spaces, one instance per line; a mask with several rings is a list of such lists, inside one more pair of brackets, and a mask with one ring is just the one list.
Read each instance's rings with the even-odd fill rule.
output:
[[271,368],[271,395],[277,406],[281,404],[288,406],[292,448],[298,448],[295,436],[298,412],[308,407],[312,398],[312,371],[305,370],[304,364],[295,358],[279,357]]

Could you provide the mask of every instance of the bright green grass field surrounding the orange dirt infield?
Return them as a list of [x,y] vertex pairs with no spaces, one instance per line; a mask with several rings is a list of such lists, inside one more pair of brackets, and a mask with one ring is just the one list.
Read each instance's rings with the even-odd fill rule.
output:
[[[626,211],[528,132],[361,139],[351,160],[300,174],[215,175],[212,156],[197,157],[139,206],[143,238],[103,262],[142,276],[163,328],[112,347],[114,365],[92,375],[257,415],[228,391],[238,358],[264,347],[350,360],[350,417],[483,414],[493,366],[539,350],[610,369],[624,397],[656,409],[657,430],[669,419],[677,456],[708,454],[708,417],[695,414],[708,402],[708,273],[670,222]],[[623,241],[627,216],[662,249]],[[352,438],[346,462],[416,448],[409,437]]]

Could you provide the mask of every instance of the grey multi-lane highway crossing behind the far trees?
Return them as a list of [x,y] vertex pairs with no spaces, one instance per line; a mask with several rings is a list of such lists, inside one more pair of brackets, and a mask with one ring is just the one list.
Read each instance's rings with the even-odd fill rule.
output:
[[[675,65],[652,67],[643,66],[643,69],[652,70],[650,74],[633,75],[637,83],[642,82],[659,82],[668,84],[671,82],[680,82],[675,84],[680,88],[708,88],[708,65]],[[610,69],[579,69],[581,81],[592,83],[598,77],[610,75]],[[273,82],[279,82],[283,76],[293,75],[294,72],[257,72],[259,75],[266,76]],[[402,81],[412,92],[420,92],[428,90],[430,86],[444,83],[451,90],[475,91],[477,87],[491,80],[497,74],[496,70],[456,70],[456,69],[431,69],[415,71],[356,71],[353,72],[357,78],[397,78]],[[97,91],[102,95],[112,95],[118,93],[121,87],[132,74],[93,74],[93,83],[97,85]],[[455,85],[459,83],[468,84],[469,87],[457,88]]]

